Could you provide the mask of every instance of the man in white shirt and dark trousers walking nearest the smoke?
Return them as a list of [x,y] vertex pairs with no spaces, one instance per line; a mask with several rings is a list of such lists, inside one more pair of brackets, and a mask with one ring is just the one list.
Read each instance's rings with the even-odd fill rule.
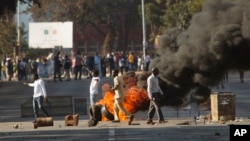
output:
[[159,81],[157,77],[158,74],[159,74],[159,69],[153,68],[152,74],[147,79],[147,92],[148,92],[148,97],[150,99],[147,124],[154,124],[152,119],[154,117],[155,111],[158,116],[158,122],[159,123],[165,122],[160,107],[160,94],[163,95],[163,92],[159,86]]

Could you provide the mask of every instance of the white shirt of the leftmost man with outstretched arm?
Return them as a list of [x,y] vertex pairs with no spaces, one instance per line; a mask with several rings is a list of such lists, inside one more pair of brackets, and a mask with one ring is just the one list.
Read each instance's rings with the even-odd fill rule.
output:
[[33,97],[44,96],[47,97],[45,84],[42,79],[35,80],[34,83],[28,84],[30,87],[34,87]]

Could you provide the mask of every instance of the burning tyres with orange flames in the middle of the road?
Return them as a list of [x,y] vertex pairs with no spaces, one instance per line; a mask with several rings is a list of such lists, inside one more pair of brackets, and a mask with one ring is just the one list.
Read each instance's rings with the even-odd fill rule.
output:
[[[149,106],[147,91],[137,85],[137,75],[135,72],[128,72],[121,76],[124,80],[124,101],[123,106],[129,113],[136,113],[146,110]],[[110,90],[109,84],[104,84],[102,90],[103,99],[92,105],[89,109],[89,127],[96,126],[99,121],[114,120],[114,92]],[[119,113],[121,121],[126,120],[123,113]]]

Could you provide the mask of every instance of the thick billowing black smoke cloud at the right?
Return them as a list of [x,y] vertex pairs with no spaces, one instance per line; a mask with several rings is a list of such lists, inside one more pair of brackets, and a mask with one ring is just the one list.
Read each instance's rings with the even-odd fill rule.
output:
[[249,42],[249,0],[205,0],[187,30],[161,35],[150,67],[160,69],[167,95],[204,101],[225,73],[250,67]]

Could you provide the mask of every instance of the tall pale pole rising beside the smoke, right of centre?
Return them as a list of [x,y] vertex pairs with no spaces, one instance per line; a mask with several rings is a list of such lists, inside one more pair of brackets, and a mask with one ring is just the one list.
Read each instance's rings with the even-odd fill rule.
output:
[[142,48],[143,48],[143,68],[145,70],[146,67],[146,46],[147,46],[147,42],[146,42],[146,25],[145,25],[145,12],[144,12],[144,0],[141,0],[141,8],[142,8],[142,35],[143,35],[143,39],[142,39]]

